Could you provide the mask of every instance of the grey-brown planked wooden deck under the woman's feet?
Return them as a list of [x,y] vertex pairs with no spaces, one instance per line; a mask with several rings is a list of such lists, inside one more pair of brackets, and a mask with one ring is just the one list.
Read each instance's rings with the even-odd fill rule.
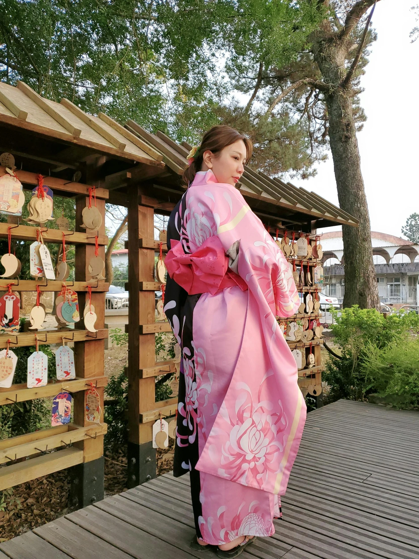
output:
[[[276,533],[243,559],[419,557],[419,413],[340,400],[308,414]],[[0,559],[189,559],[187,476],[170,474],[0,544]]]

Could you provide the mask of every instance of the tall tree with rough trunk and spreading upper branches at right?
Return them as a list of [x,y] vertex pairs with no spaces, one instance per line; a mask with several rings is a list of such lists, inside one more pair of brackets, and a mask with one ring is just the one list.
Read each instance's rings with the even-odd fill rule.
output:
[[[356,131],[365,120],[359,106],[360,75],[367,63],[374,0],[313,0],[321,21],[298,60],[279,64],[272,50],[249,43],[250,51],[237,53],[230,65],[236,87],[265,107],[259,123],[282,119],[284,111],[299,115],[307,127],[311,154],[330,144],[340,207],[360,220],[359,228],[342,226],[345,254],[344,306],[379,309],[373,264],[370,220]],[[373,7],[369,17],[366,12]],[[269,56],[269,54],[271,54]],[[247,68],[244,72],[242,69]],[[232,111],[231,111],[232,112]],[[265,124],[266,125],[266,124]],[[310,165],[309,165],[310,167]]]

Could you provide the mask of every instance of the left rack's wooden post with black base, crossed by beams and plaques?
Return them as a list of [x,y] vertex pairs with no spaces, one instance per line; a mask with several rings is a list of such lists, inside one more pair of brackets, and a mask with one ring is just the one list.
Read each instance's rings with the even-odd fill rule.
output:
[[[89,167],[89,170],[94,172],[95,164]],[[105,234],[105,201],[96,199],[97,209],[102,215],[102,225],[98,230],[98,235]],[[82,224],[82,211],[85,206],[89,204],[89,197],[78,196],[76,198],[76,229],[83,231],[80,228]],[[94,233],[92,234],[94,236]],[[99,247],[99,256],[104,261],[105,248]],[[76,245],[75,248],[75,280],[86,281],[92,278],[89,273],[90,259],[95,255],[95,245]],[[88,293],[79,293],[79,310],[80,315],[83,315],[84,305],[87,301]],[[92,305],[94,312],[97,315],[95,328],[104,328],[104,304],[105,293],[92,292]],[[84,328],[82,321],[76,323],[79,328]],[[92,339],[86,342],[74,343],[74,358],[75,369],[77,376],[92,378],[101,377],[104,375],[104,340]],[[85,387],[85,391],[78,392],[74,395],[74,423],[82,425],[97,425],[85,419],[85,397],[89,387]],[[98,387],[99,402],[101,406],[101,423],[103,423],[103,387]],[[71,503],[77,508],[91,505],[92,503],[103,499],[103,483],[104,483],[104,458],[103,458],[103,437],[104,435],[96,435],[94,438],[82,440],[75,443],[74,446],[83,449],[83,464],[74,466],[72,471],[72,489],[71,489]]]

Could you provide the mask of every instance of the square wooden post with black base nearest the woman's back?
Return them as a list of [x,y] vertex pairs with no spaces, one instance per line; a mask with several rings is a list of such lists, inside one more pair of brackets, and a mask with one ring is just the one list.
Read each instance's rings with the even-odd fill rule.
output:
[[139,206],[139,190],[128,192],[128,487],[156,476],[153,422],[140,423],[140,414],[155,407],[154,377],[140,378],[140,369],[155,366],[155,334],[142,334],[141,325],[155,323],[154,291],[139,290],[139,282],[154,282],[153,248],[139,248],[139,239],[154,239],[154,210]]

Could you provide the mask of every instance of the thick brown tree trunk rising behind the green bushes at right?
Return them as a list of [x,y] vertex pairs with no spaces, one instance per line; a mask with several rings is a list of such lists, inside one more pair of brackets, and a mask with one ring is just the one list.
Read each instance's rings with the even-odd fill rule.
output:
[[345,258],[344,307],[380,309],[373,262],[371,225],[356,139],[350,89],[338,87],[327,97],[330,149],[342,210],[360,220],[359,228],[342,225]]

